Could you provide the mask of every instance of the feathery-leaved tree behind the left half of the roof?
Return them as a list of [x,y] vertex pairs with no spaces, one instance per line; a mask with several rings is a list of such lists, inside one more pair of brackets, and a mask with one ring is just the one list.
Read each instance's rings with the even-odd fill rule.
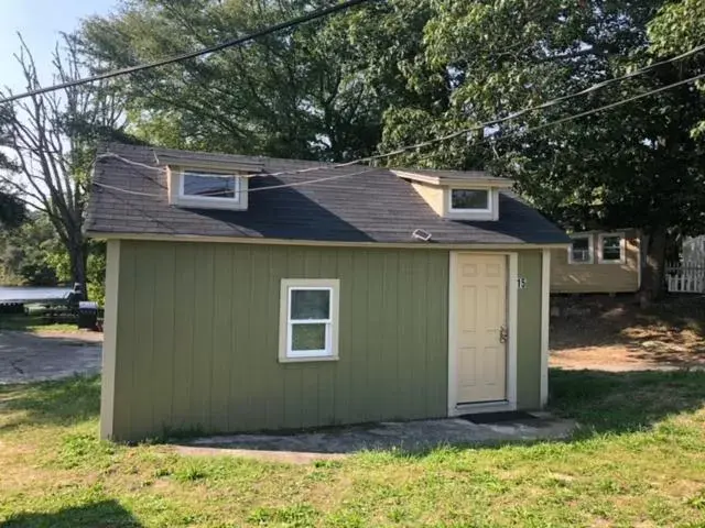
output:
[[[123,67],[245,35],[318,1],[134,0],[88,19],[86,53]],[[356,10],[350,12],[356,15]],[[241,154],[349,160],[380,141],[386,99],[364,81],[365,43],[335,15],[121,80],[131,129],[153,143]]]

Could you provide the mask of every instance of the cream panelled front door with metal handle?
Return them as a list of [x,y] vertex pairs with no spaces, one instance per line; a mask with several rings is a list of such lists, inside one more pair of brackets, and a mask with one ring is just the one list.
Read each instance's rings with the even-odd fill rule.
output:
[[457,403],[507,399],[507,256],[457,254]]

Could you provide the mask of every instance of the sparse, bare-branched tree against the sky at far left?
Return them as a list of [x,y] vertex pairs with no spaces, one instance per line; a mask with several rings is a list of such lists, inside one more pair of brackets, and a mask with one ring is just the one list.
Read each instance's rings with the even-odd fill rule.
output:
[[[34,58],[24,41],[17,55],[29,89],[40,88]],[[87,73],[76,38],[64,35],[54,52],[54,82]],[[9,95],[9,90],[4,90]],[[0,183],[28,207],[46,215],[66,249],[70,278],[86,290],[85,205],[96,147],[119,135],[124,124],[122,101],[105,82],[31,96],[0,109],[0,146],[12,169]]]

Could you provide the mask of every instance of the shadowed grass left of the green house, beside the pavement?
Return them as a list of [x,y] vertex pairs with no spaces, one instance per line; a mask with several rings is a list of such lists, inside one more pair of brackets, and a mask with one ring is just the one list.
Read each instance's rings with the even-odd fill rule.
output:
[[30,385],[0,385],[0,414],[18,413],[0,430],[20,426],[74,424],[98,417],[100,376],[75,376]]

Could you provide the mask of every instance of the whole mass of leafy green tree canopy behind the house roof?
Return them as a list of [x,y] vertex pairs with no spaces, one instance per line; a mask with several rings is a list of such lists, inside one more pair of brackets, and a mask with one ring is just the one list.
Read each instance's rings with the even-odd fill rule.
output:
[[[131,0],[87,20],[102,67],[193,51],[323,0]],[[351,160],[512,116],[705,43],[701,0],[388,0],[116,85],[165,146]],[[705,230],[697,54],[390,163],[488,168],[566,229],[639,228],[658,295],[672,233]],[[554,124],[555,121],[561,123]]]

